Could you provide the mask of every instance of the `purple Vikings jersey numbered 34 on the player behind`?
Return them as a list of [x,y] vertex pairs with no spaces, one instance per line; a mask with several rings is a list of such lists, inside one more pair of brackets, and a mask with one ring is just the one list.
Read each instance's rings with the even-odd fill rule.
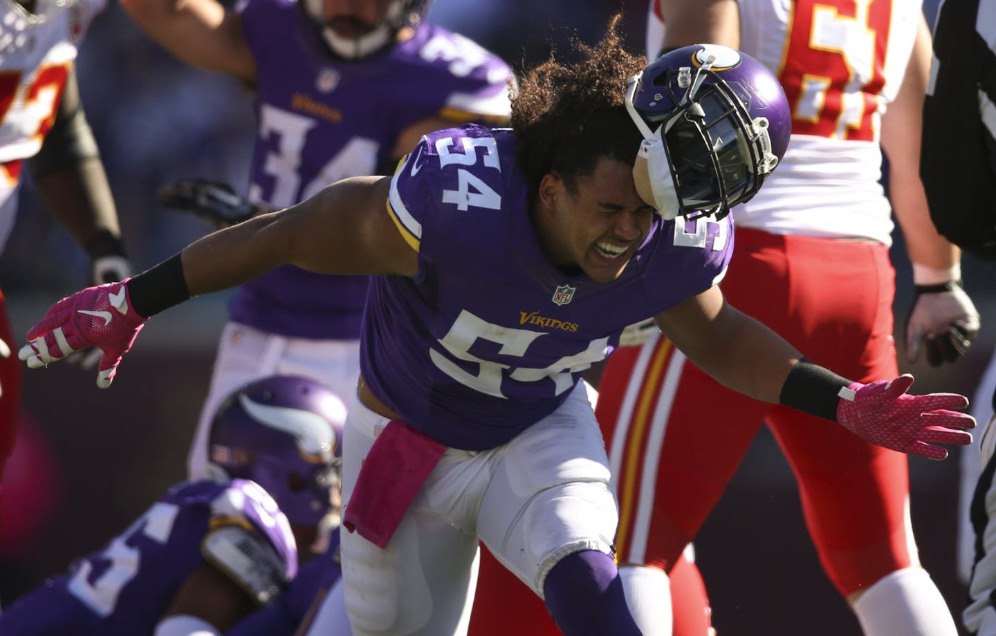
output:
[[[248,195],[265,208],[289,207],[385,164],[389,174],[398,135],[416,121],[509,114],[508,65],[441,27],[423,23],[393,47],[345,61],[325,49],[293,0],[246,0],[239,12],[258,95]],[[285,266],[238,288],[229,313],[291,337],[356,339],[366,296],[367,277]]]

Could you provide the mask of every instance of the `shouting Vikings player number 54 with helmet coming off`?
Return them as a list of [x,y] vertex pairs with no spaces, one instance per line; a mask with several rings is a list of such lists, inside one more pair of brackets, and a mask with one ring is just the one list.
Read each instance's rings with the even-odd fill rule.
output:
[[[356,634],[464,633],[478,540],[565,634],[639,633],[581,375],[643,318],[724,384],[874,444],[941,459],[938,444],[968,443],[975,421],[952,410],[964,396],[908,394],[910,376],[853,382],[724,301],[729,206],[785,152],[785,94],[726,47],[646,66],[620,23],[579,44],[577,61],[526,74],[511,128],[432,132],[392,177],[339,181],[77,292],[19,357],[39,368],[100,346],[119,358],[100,368],[107,385],[148,317],[192,296],[286,264],[374,275],[344,439],[340,551]],[[701,416],[703,435],[723,434],[708,404]]]

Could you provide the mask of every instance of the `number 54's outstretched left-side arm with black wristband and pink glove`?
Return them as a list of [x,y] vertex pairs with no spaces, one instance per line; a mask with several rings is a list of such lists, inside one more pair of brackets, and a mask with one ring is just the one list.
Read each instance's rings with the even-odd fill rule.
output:
[[235,287],[281,265],[413,276],[417,254],[387,211],[389,187],[387,177],[339,181],[286,210],[209,234],[133,279],[77,292],[28,331],[19,357],[38,368],[97,346],[104,351],[97,383],[106,388],[145,320],[191,296]]

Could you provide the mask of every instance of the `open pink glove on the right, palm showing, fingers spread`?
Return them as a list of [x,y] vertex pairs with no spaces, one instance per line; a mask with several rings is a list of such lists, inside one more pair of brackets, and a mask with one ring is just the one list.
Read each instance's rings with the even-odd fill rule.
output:
[[971,444],[975,418],[963,409],[968,398],[957,393],[907,395],[913,376],[904,373],[891,382],[854,382],[841,389],[837,421],[871,444],[900,453],[942,460],[947,451],[932,444]]

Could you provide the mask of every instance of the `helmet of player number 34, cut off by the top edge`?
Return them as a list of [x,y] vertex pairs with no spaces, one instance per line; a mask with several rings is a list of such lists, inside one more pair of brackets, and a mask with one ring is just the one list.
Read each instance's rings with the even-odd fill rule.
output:
[[417,27],[428,12],[429,0],[390,0],[387,13],[373,31],[357,38],[342,36],[326,23],[324,0],[298,0],[298,4],[305,17],[318,26],[333,53],[346,60],[360,60],[386,47],[404,27]]

